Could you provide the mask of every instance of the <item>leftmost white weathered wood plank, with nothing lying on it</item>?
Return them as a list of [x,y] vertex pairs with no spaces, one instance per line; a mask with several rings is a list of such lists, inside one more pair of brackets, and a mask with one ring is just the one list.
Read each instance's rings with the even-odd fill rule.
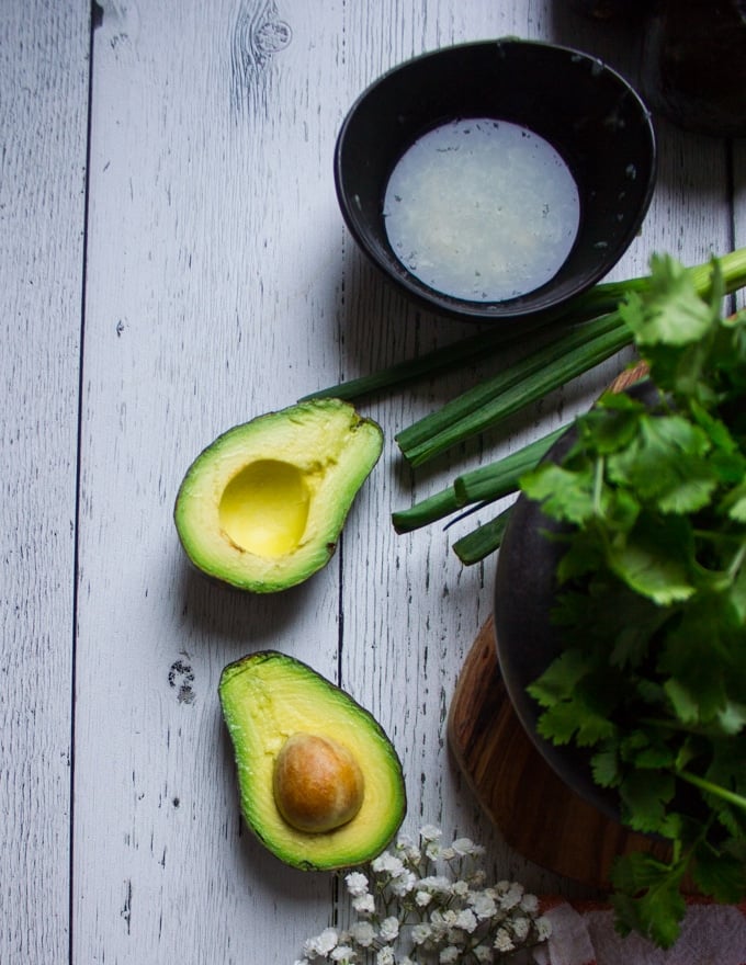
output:
[[89,4],[0,10],[0,961],[67,961]]

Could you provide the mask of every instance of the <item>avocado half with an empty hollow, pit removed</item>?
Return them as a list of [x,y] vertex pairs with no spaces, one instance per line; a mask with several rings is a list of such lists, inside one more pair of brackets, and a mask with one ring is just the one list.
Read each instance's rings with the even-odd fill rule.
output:
[[204,572],[256,593],[306,580],[334,555],[383,432],[340,399],[298,402],[218,436],[181,484],[174,521]]

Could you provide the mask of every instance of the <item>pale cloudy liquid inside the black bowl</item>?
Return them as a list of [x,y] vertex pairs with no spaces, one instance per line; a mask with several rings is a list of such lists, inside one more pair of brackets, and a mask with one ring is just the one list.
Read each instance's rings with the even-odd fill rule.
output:
[[502,302],[562,268],[580,202],[546,140],[485,117],[419,138],[388,180],[384,217],[396,257],[426,285],[470,302]]

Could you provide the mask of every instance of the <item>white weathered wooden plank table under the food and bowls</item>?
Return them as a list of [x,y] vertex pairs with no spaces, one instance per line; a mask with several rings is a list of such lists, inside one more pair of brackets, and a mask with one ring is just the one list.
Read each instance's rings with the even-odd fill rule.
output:
[[[216,685],[264,647],[378,717],[408,830],[440,824],[485,843],[496,874],[572,889],[509,851],[448,753],[495,560],[463,568],[459,526],[396,536],[389,515],[585,405],[615,363],[512,440],[421,473],[394,432],[475,373],[366,402],[384,456],[335,560],[285,593],[207,583],[171,520],[223,430],[464,333],[363,263],[332,148],[384,69],[506,34],[634,80],[634,38],[551,0],[0,3],[3,965],[280,965],[334,919],[331,877],[280,864],[239,818]],[[694,262],[746,243],[744,145],[658,133],[658,186],[618,277],[654,250]]]

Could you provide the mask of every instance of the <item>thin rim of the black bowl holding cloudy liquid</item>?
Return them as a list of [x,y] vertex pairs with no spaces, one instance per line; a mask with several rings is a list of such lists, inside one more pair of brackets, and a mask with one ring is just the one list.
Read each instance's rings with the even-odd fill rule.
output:
[[[641,195],[641,201],[637,205],[637,211],[635,212],[634,217],[630,219],[624,234],[613,246],[613,253],[611,254],[611,257],[601,257],[598,264],[592,270],[585,272],[577,284],[573,285],[572,290],[568,293],[565,293],[562,298],[550,299],[546,305],[540,307],[536,307],[536,305],[533,304],[532,299],[530,299],[530,296],[540,293],[542,290],[549,290],[552,286],[554,277],[556,277],[556,275],[550,279],[544,284],[540,285],[538,288],[534,288],[532,292],[527,292],[522,295],[517,295],[512,298],[505,298],[497,302],[470,302],[468,299],[456,298],[454,296],[439,292],[437,288],[432,288],[425,282],[419,281],[398,261],[394,252],[392,252],[391,259],[384,258],[378,249],[378,246],[370,243],[370,238],[365,228],[364,219],[358,216],[351,192],[346,184],[344,148],[347,145],[348,134],[350,127],[355,121],[360,107],[375,91],[377,91],[385,83],[389,82],[393,77],[399,73],[406,73],[406,71],[423,61],[434,61],[440,58],[453,56],[454,53],[459,53],[462,50],[487,50],[489,48],[499,49],[504,47],[512,47],[516,49],[531,48],[535,50],[551,50],[553,53],[565,54],[572,59],[579,59],[583,63],[590,65],[594,70],[602,71],[604,75],[609,76],[614,83],[619,84],[620,90],[624,91],[625,95],[629,96],[631,101],[637,105],[643,127],[645,128],[647,134],[646,139],[649,151],[649,160],[645,190]],[[512,35],[477,41],[463,41],[455,44],[449,44],[442,47],[425,50],[420,54],[415,55],[414,57],[409,57],[408,59],[389,67],[373,81],[371,81],[353,100],[342,120],[334,147],[334,180],[337,201],[343,220],[350,234],[352,235],[358,246],[365,252],[371,262],[377,268],[380,272],[382,272],[386,276],[386,279],[405,290],[407,295],[421,307],[428,309],[431,313],[445,315],[462,321],[473,321],[477,323],[500,323],[502,321],[510,321],[517,318],[528,318],[530,316],[536,316],[538,320],[541,321],[547,316],[552,317],[556,315],[574,298],[577,298],[584,292],[587,292],[589,288],[591,288],[601,279],[603,279],[626,252],[630,245],[637,235],[642,223],[647,216],[657,182],[657,169],[658,145],[653,113],[645,103],[640,92],[619,70],[617,70],[614,67],[611,67],[601,57],[589,54],[585,50],[567,44],[555,44],[551,41],[522,38]],[[528,303],[525,302],[527,298],[530,299]]]

